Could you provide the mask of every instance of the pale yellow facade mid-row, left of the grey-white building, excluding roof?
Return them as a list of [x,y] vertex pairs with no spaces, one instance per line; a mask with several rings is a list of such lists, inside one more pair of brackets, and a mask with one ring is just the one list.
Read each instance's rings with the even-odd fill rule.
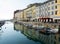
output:
[[26,9],[24,9],[24,19],[25,20],[30,20],[35,18],[36,15],[36,5],[27,7]]

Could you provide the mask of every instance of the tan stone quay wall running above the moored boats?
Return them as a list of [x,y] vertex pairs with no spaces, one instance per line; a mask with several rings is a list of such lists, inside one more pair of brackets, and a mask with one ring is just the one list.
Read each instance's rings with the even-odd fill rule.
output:
[[41,25],[41,26],[45,26],[45,27],[49,27],[49,28],[59,28],[60,27],[59,23],[23,22],[23,21],[19,21],[18,23]]

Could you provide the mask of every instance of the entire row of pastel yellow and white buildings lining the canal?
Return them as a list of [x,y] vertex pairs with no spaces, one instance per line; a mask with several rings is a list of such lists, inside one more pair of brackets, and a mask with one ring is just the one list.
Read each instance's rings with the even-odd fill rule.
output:
[[[58,22],[60,21],[60,0],[48,0],[43,3],[30,4],[18,14],[21,20]],[[17,16],[19,17],[19,15]]]

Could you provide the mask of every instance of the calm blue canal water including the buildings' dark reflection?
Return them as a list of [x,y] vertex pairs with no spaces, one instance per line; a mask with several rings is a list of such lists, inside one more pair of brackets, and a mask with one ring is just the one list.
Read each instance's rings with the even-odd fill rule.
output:
[[60,34],[43,34],[39,30],[5,22],[0,29],[0,44],[60,44]]

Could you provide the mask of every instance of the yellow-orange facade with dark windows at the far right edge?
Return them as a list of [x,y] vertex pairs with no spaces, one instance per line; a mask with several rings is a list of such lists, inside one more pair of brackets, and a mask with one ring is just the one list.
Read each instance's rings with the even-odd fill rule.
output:
[[54,1],[54,7],[53,10],[54,15],[51,15],[53,20],[60,21],[60,0],[53,0]]

